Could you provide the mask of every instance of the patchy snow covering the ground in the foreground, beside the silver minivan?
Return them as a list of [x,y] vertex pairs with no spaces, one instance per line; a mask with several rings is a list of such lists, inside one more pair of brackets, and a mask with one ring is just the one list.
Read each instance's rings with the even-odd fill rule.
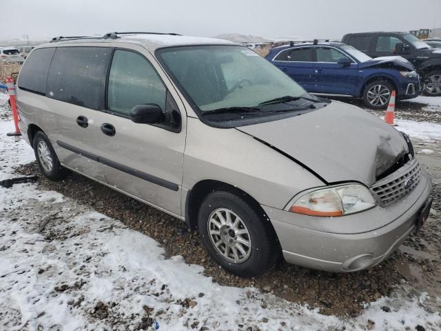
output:
[[[23,140],[6,137],[12,128],[0,121],[0,180],[34,159]],[[154,330],[155,322],[158,330],[441,328],[440,313],[427,306],[433,298],[413,290],[341,319],[255,288],[212,283],[201,266],[163,254],[150,237],[57,192],[34,183],[0,187],[0,329]]]

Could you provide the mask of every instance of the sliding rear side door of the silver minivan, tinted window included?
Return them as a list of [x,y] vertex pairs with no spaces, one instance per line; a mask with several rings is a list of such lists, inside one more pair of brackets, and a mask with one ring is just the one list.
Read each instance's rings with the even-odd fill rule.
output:
[[57,48],[45,94],[45,106],[50,109],[45,121],[51,123],[46,133],[59,160],[103,183],[107,181],[98,162],[101,146],[96,143],[100,130],[97,115],[104,108],[111,53],[108,47]]

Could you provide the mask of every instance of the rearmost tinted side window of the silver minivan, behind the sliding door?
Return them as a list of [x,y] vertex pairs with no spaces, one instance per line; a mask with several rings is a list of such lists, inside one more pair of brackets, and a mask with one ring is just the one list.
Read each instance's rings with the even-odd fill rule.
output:
[[[3,51],[4,52],[4,51]],[[45,94],[46,79],[55,48],[34,50],[20,70],[19,88]]]

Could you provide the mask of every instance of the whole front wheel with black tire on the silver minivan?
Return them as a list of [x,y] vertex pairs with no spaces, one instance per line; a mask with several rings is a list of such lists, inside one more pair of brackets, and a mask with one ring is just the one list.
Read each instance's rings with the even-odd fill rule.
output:
[[[219,214],[226,222],[223,223]],[[220,228],[214,221],[221,225]],[[240,277],[262,274],[274,265],[280,253],[271,223],[236,194],[223,191],[209,194],[199,208],[198,227],[213,259]],[[219,229],[219,234],[214,234]],[[215,243],[219,242],[216,248]]]

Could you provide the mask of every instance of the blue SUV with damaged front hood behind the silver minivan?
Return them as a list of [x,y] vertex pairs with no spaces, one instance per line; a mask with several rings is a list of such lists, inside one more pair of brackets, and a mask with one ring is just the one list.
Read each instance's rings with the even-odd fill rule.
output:
[[272,48],[265,57],[305,90],[330,97],[362,98],[369,108],[387,108],[397,99],[418,97],[420,77],[402,57],[372,59],[352,46],[317,40]]

